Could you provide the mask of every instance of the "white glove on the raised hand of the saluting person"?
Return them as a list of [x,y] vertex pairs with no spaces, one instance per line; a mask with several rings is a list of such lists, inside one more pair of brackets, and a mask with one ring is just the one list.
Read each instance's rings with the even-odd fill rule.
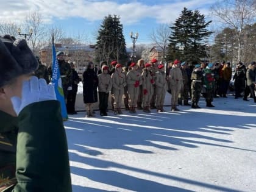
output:
[[55,90],[52,85],[47,85],[46,80],[32,76],[30,80],[23,82],[21,98],[11,98],[13,109],[17,115],[29,104],[40,101],[56,100]]

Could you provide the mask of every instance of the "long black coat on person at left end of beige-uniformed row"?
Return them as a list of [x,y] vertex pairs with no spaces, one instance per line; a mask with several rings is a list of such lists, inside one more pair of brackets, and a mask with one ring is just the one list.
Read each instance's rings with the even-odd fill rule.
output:
[[93,69],[85,70],[83,74],[83,96],[84,103],[90,104],[98,102],[98,88],[99,80],[97,74]]

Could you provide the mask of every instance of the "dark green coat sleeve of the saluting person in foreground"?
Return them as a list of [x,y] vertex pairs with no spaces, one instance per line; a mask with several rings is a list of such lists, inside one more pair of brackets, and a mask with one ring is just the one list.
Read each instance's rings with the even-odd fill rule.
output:
[[43,101],[28,105],[18,116],[18,127],[18,183],[12,192],[72,191],[60,103]]

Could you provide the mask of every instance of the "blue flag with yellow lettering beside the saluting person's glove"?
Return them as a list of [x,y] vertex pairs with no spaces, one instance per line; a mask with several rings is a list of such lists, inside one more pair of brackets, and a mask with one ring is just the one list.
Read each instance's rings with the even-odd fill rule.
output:
[[59,63],[56,56],[55,46],[52,43],[52,85],[54,85],[57,100],[60,102],[62,110],[62,118],[64,121],[68,120],[68,113],[66,112],[66,104],[64,92],[62,88],[62,78],[60,77]]

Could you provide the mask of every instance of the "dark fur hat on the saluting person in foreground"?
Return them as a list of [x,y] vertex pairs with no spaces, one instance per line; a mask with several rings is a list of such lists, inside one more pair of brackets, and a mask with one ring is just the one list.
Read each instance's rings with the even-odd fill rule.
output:
[[0,87],[22,74],[38,68],[38,60],[24,39],[0,35]]

